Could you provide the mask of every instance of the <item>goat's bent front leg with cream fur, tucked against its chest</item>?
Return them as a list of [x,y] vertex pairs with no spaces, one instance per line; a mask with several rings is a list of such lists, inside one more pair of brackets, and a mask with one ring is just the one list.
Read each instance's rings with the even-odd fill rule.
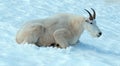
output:
[[71,33],[67,29],[56,30],[53,34],[55,41],[60,45],[61,48],[66,48],[69,46],[68,41]]

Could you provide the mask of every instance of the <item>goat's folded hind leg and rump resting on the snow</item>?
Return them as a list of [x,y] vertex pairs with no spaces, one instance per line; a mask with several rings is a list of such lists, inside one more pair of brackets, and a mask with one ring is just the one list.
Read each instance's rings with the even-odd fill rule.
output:
[[43,29],[42,25],[26,27],[26,29],[21,30],[17,35],[17,42],[35,44],[38,41],[40,34],[43,32]]

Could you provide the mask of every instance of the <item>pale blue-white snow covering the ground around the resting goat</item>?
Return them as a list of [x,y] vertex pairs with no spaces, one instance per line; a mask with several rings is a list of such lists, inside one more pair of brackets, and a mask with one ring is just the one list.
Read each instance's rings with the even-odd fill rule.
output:
[[[80,43],[67,49],[17,44],[16,32],[29,20],[57,13],[88,16],[94,8],[103,32],[93,38],[87,31]],[[0,66],[120,66],[119,0],[0,0]]]

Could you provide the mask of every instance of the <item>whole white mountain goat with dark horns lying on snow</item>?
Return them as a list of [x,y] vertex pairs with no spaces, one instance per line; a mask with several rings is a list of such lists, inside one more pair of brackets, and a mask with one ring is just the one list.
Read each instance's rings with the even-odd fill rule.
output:
[[[91,8],[92,9],[92,8]],[[96,13],[93,15],[85,9],[89,18],[73,14],[59,14],[46,19],[27,22],[16,35],[17,43],[35,44],[37,46],[56,46],[66,48],[76,44],[84,29],[94,37],[102,32],[96,25]]]

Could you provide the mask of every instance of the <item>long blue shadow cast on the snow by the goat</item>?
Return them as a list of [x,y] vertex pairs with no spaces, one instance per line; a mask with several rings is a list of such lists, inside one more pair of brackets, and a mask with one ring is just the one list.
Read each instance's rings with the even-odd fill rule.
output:
[[75,50],[75,48],[83,50],[83,51],[94,51],[94,52],[100,53],[100,54],[108,54],[108,55],[120,56],[120,53],[115,53],[114,51],[105,50],[105,49],[102,49],[100,47],[85,44],[85,43],[82,43],[82,42],[77,43],[75,45],[75,47],[74,47],[74,50]]

